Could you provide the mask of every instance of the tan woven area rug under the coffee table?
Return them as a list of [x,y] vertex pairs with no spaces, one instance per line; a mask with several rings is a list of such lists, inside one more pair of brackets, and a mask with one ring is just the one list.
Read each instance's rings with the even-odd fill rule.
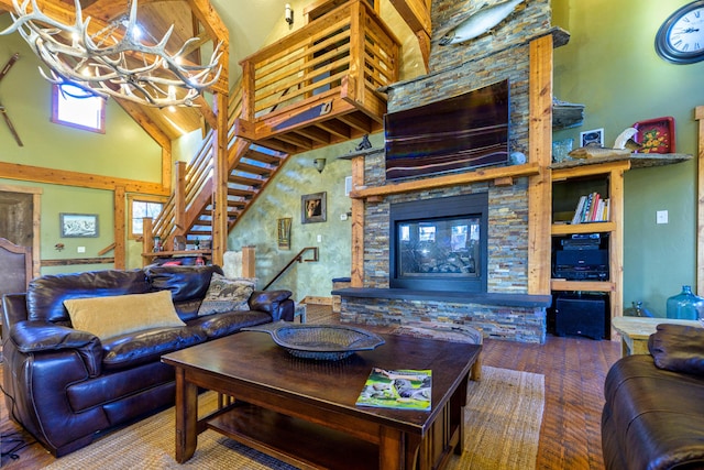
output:
[[[199,400],[205,413],[217,395]],[[470,382],[464,452],[453,456],[452,470],[535,469],[544,382],[540,374],[482,368],[482,381]],[[246,469],[293,470],[294,467],[230,440],[213,430],[198,436],[195,456],[185,464],[174,460],[174,409],[111,433],[92,445],[62,457],[58,469]]]

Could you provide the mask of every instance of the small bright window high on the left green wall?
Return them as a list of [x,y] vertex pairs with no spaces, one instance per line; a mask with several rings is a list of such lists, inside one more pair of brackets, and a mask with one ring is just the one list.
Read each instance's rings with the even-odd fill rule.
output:
[[105,134],[106,100],[75,85],[54,85],[52,122]]

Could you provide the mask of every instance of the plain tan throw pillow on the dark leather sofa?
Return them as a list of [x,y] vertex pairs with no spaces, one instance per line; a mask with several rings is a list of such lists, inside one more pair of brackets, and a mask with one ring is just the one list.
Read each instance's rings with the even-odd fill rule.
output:
[[170,291],[64,300],[75,329],[101,340],[158,327],[183,327]]

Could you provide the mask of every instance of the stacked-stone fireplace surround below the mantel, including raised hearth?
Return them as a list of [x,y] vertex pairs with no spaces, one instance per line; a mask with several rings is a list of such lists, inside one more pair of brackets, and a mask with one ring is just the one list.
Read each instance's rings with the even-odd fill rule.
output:
[[[384,167],[383,152],[367,155],[365,167]],[[487,192],[488,278],[486,293],[389,288],[389,210],[410,199]],[[542,343],[549,295],[528,295],[527,183],[497,187],[482,183],[386,197],[366,204],[364,287],[332,291],[341,296],[342,323],[403,325],[416,321],[469,325],[488,338]]]

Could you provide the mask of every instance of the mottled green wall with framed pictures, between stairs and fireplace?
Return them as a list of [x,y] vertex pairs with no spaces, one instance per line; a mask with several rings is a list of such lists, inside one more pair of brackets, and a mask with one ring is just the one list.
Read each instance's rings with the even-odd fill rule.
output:
[[[383,134],[372,135],[370,140],[375,147],[384,144]],[[340,216],[351,210],[351,199],[344,194],[344,178],[352,175],[352,163],[339,156],[350,153],[358,143],[359,140],[350,141],[290,156],[230,233],[230,250],[239,251],[245,245],[256,248],[258,287],[268,283],[306,247],[318,247],[320,261],[295,263],[271,288],[290,289],[297,300],[306,296],[330,297],[332,280],[350,276],[352,221],[341,220]],[[314,159],[326,159],[322,173],[314,167]],[[327,221],[301,223],[301,196],[321,192],[327,193]],[[285,217],[293,219],[290,250],[277,248],[276,220]],[[304,259],[309,256],[310,252]]]

